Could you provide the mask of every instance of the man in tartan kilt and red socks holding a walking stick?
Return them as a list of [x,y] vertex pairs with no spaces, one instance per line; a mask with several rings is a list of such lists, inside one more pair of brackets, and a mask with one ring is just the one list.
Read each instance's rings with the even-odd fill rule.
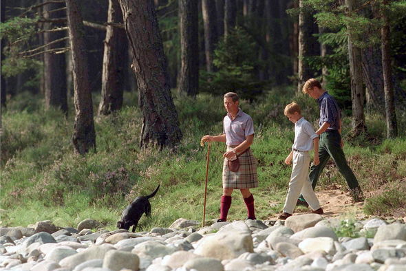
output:
[[[223,120],[222,135],[204,135],[202,142],[226,142],[227,150],[223,154],[223,195],[220,201],[220,219],[227,221],[228,209],[231,206],[231,193],[239,189],[248,210],[247,219],[255,218],[254,197],[250,188],[258,187],[257,160],[253,156],[250,145],[254,140],[253,119],[238,107],[239,97],[233,92],[224,94],[224,107],[227,115]],[[239,168],[237,171],[228,169],[228,159],[237,155]]]

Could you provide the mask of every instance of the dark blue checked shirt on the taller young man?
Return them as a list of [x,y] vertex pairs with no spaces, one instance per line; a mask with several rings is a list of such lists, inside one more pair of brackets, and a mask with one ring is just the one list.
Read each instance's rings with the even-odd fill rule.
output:
[[323,125],[324,122],[330,123],[330,130],[337,130],[340,128],[341,112],[339,105],[337,105],[336,100],[325,91],[317,99],[320,107],[320,120],[319,126]]

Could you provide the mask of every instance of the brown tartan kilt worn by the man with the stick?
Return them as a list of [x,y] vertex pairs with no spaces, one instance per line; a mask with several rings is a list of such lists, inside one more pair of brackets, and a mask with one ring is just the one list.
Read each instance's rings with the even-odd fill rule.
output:
[[[227,147],[231,151],[233,147]],[[227,166],[227,158],[223,163],[223,188],[255,188],[258,187],[257,160],[253,151],[249,149],[238,157],[239,169],[237,172],[230,171]]]

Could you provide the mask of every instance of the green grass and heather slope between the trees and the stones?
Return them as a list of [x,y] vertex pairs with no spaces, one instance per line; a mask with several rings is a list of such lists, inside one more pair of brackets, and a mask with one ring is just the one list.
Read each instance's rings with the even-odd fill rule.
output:
[[[139,148],[142,113],[134,105],[136,96],[125,92],[122,110],[95,118],[97,152],[85,156],[73,151],[73,113],[66,118],[57,110],[44,111],[43,98],[27,94],[10,100],[2,116],[1,226],[49,219],[58,226],[76,227],[92,218],[112,230],[125,206],[158,184],[160,191],[151,199],[152,216],[142,217],[138,230],[167,227],[179,217],[202,221],[207,149],[200,147],[200,138],[222,133],[222,97],[199,94],[193,99],[176,91],[173,97],[184,135],[177,149]],[[258,160],[259,188],[253,189],[253,195],[259,219],[279,213],[286,197],[291,167],[284,159],[292,146],[294,126],[283,109],[292,100],[317,127],[317,102],[295,94],[293,88],[273,89],[253,102],[241,101],[255,123],[252,149]],[[350,131],[350,118],[343,123],[345,134]],[[385,122],[379,115],[367,115],[366,123],[375,139],[346,138],[344,149],[368,197],[365,213],[404,216],[406,189],[396,185],[405,183],[406,138],[384,140]],[[221,143],[211,147],[206,221],[219,215],[224,149]],[[330,161],[317,189],[332,186],[347,187]],[[245,218],[242,196],[234,191],[229,219]]]

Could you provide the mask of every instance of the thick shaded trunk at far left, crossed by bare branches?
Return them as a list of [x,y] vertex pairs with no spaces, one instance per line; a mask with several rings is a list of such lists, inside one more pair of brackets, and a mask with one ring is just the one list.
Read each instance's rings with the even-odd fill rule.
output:
[[[45,0],[46,1],[46,0]],[[65,3],[47,3],[43,6],[45,19],[59,19],[66,17],[65,10],[54,11],[64,8]],[[51,12],[52,11],[52,12]],[[44,23],[44,29],[62,27],[62,23]],[[44,44],[62,39],[65,37],[65,31],[45,32],[43,34]],[[47,50],[65,47],[65,41],[54,43],[46,47]],[[67,114],[67,86],[66,86],[66,61],[64,54],[45,53],[44,60],[44,90],[45,107],[60,108]]]

